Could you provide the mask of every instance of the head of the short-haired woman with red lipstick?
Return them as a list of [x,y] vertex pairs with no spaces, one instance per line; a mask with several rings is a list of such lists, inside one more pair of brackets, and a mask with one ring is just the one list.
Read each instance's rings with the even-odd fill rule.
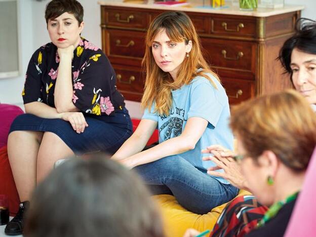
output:
[[57,48],[76,47],[84,28],[84,9],[76,0],[52,0],[46,6],[45,19],[52,43]]

